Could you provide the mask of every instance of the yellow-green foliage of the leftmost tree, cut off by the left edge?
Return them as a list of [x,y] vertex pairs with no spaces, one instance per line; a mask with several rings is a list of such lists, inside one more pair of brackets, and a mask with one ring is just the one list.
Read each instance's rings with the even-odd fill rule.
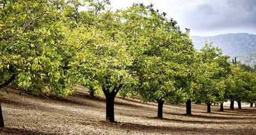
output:
[[[56,1],[55,1],[56,2]],[[61,1],[60,1],[61,2]],[[68,27],[51,1],[1,1],[1,82],[17,74],[13,85],[33,94],[67,96],[74,77],[65,70]]]

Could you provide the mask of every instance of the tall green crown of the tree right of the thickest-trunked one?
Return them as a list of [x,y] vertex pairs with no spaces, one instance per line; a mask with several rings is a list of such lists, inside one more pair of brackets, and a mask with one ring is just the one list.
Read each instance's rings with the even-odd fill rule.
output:
[[125,11],[131,69],[138,78],[136,89],[143,101],[180,103],[185,96],[180,79],[188,76],[186,67],[194,50],[188,34],[164,16],[152,5],[134,4]]

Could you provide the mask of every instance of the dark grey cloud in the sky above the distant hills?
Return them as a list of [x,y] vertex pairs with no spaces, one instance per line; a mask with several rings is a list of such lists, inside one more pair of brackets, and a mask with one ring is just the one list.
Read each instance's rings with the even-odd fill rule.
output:
[[256,0],[224,0],[184,11],[182,24],[195,31],[256,27]]

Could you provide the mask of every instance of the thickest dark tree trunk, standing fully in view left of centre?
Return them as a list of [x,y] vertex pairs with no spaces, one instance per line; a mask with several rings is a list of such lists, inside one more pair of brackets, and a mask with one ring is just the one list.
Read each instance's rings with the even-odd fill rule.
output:
[[114,115],[114,101],[115,96],[113,94],[107,94],[106,97],[106,120],[109,122],[115,122],[115,115]]

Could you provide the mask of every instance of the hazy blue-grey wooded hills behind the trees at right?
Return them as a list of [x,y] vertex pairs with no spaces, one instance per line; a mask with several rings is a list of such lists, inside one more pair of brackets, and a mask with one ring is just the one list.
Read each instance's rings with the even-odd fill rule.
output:
[[256,35],[247,33],[220,34],[217,36],[191,36],[197,50],[204,46],[205,41],[212,41],[214,46],[222,49],[223,54],[250,66],[256,65]]

